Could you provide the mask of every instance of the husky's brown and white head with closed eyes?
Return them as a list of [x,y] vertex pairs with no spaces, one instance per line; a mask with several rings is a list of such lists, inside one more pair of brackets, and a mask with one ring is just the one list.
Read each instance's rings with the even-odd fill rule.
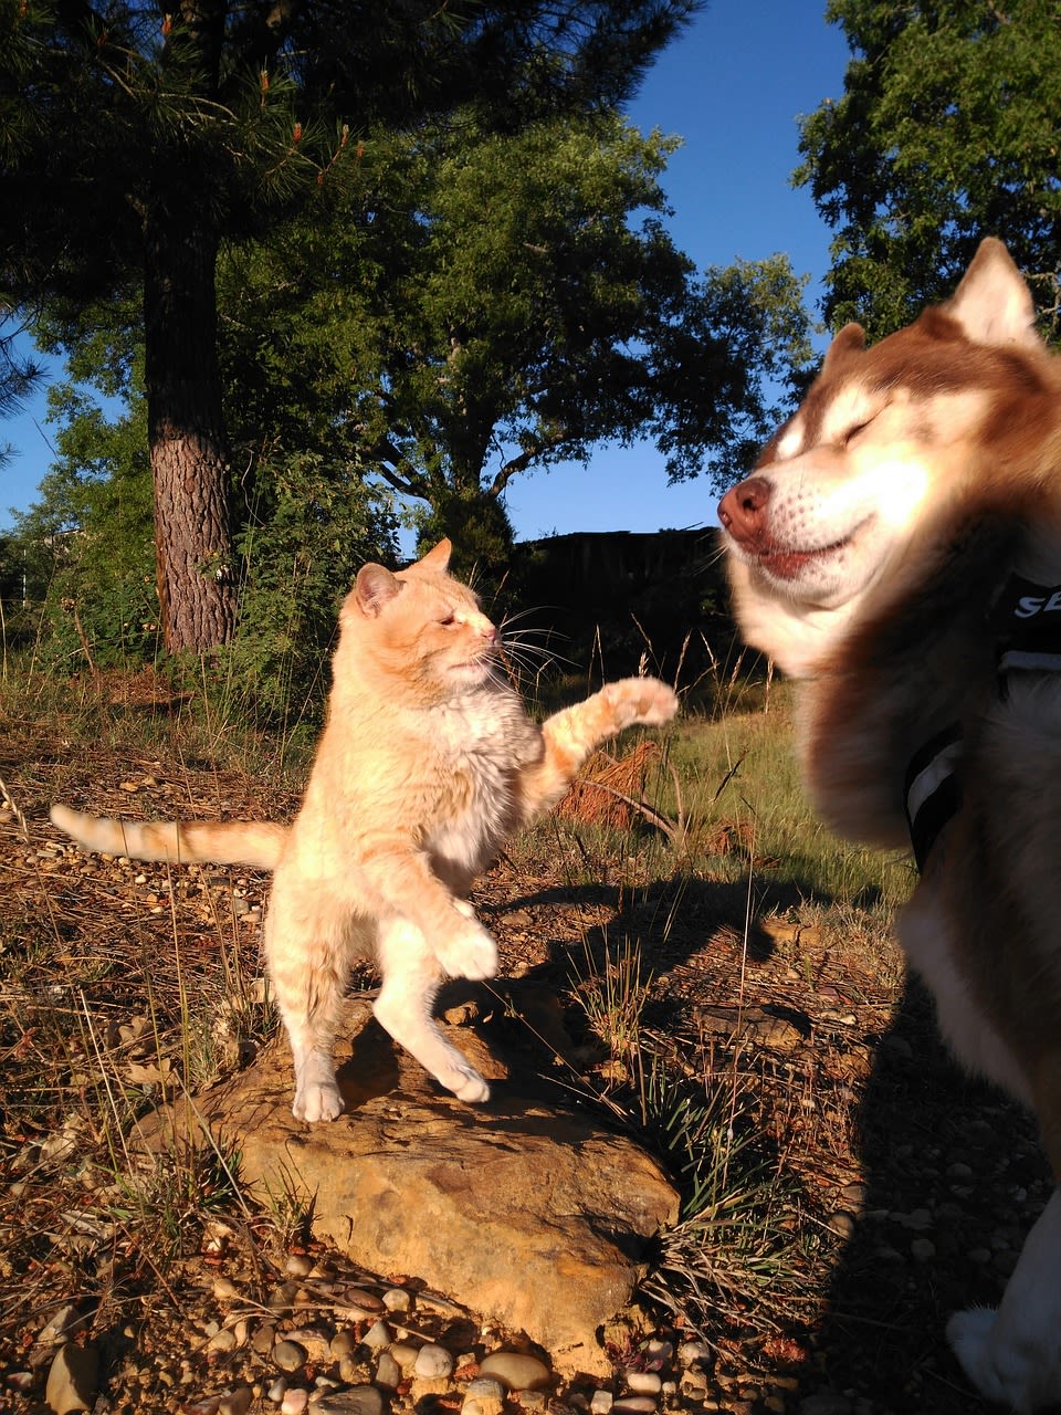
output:
[[789,674],[813,672],[866,594],[931,555],[970,494],[1004,495],[1028,466],[1057,420],[1033,317],[1006,248],[985,241],[955,296],[908,328],[869,350],[857,324],[843,328],[721,498],[741,628]]

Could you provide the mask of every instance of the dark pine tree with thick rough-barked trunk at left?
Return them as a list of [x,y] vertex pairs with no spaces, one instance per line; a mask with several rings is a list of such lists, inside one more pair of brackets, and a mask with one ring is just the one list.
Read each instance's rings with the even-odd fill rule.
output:
[[166,645],[235,617],[215,275],[356,151],[456,103],[508,126],[625,96],[693,0],[0,7],[0,299],[143,299]]

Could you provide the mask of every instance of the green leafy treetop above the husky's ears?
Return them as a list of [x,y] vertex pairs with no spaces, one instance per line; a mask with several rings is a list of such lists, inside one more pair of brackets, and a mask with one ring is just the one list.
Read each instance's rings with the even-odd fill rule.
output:
[[802,123],[795,181],[836,231],[830,323],[908,323],[996,235],[1057,328],[1057,0],[830,0],[826,16],[853,58],[843,96]]

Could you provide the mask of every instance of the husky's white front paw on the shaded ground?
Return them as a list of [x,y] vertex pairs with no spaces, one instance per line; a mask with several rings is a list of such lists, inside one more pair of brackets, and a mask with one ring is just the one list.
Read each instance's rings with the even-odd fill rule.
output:
[[953,1353],[976,1390],[1013,1411],[1034,1411],[1061,1401],[1061,1347],[1057,1332],[1036,1340],[999,1340],[999,1313],[992,1307],[956,1312],[946,1324]]

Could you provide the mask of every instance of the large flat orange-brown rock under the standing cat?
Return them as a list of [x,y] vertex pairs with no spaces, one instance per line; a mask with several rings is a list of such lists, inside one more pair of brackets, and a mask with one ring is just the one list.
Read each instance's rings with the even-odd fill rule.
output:
[[542,1099],[530,1071],[509,1071],[472,1029],[451,1036],[491,1080],[481,1107],[443,1092],[364,1002],[348,1003],[342,1030],[347,1112],[328,1125],[291,1116],[279,1041],[195,1099],[239,1150],[243,1183],[311,1199],[314,1232],[365,1268],[420,1278],[525,1332],[560,1368],[604,1370],[598,1329],[628,1303],[652,1235],[678,1217],[655,1160],[594,1115]]

